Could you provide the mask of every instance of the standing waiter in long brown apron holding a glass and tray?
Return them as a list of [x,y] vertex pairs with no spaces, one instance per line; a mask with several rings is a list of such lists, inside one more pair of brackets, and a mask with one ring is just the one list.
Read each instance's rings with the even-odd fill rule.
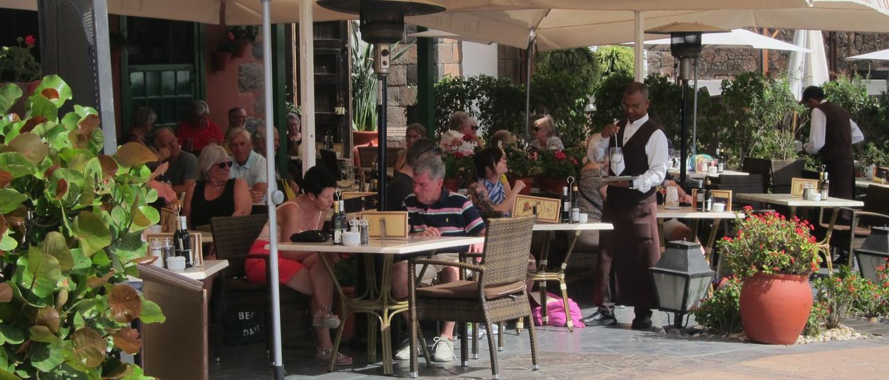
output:
[[614,229],[601,235],[593,301],[600,312],[613,307],[613,300],[605,299],[613,268],[617,299],[621,305],[635,306],[633,329],[650,329],[652,309],[657,307],[648,268],[661,258],[654,192],[667,175],[667,136],[648,118],[649,104],[645,84],[630,83],[622,104],[627,119],[602,131],[602,144],[621,147],[623,153],[622,160],[611,157],[611,175],[633,179],[609,182],[602,221]]

